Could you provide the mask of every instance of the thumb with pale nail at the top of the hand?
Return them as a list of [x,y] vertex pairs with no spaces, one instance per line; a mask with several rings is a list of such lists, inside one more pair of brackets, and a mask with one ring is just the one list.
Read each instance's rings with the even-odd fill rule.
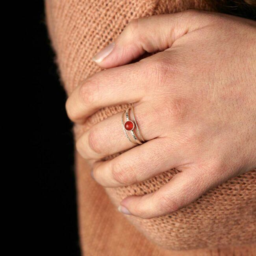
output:
[[100,67],[111,68],[129,63],[145,52],[163,51],[186,33],[207,26],[211,15],[187,10],[131,20],[117,39],[94,57]]

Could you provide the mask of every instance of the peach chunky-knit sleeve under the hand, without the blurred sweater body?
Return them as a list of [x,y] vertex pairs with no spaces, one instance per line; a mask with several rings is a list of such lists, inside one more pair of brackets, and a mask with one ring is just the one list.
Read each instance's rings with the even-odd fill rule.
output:
[[[186,9],[215,11],[213,5],[202,0],[51,0],[49,5],[49,34],[56,52],[59,75],[68,96],[81,80],[102,70],[91,58],[118,37],[131,19]],[[91,115],[85,124],[75,124],[74,139],[77,140],[97,122],[128,106],[131,105],[102,108]],[[117,207],[128,195],[156,191],[178,172],[171,169],[139,184],[105,188],[105,191],[113,207]],[[126,215],[126,219],[149,241],[164,249],[256,243],[255,198],[256,169],[224,182],[174,213],[152,219]]]

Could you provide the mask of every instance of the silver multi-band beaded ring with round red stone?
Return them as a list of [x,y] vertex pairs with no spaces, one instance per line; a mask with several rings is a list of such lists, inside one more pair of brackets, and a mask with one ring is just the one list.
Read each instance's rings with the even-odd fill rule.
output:
[[[132,116],[133,116],[134,122],[131,121],[130,118],[129,118],[129,110],[130,110],[130,109],[132,110]],[[125,123],[123,122],[123,115],[124,115],[124,113],[126,113],[126,122],[125,122]],[[133,106],[130,107],[130,108],[127,108],[126,110],[124,110],[124,111],[122,112],[122,120],[121,120],[121,121],[122,121],[122,127],[123,127],[123,129],[124,129],[124,133],[125,133],[126,137],[129,139],[130,142],[134,143],[133,141],[131,141],[131,139],[129,138],[129,136],[128,136],[128,134],[127,134],[126,131],[131,132],[132,137],[133,137],[134,140],[136,141],[136,143],[134,143],[135,145],[141,145],[141,144],[143,144],[143,142],[145,142],[145,140],[143,139],[143,137],[142,137],[142,135],[141,135],[141,133],[140,133],[140,131],[139,131],[138,124],[137,124],[137,122],[136,122],[136,120],[135,120],[134,111],[133,111]],[[133,131],[134,128],[135,128],[135,126],[136,126],[136,128],[137,128],[139,137],[141,137],[141,141],[137,138],[137,136],[135,135],[135,133],[134,133],[134,131]]]

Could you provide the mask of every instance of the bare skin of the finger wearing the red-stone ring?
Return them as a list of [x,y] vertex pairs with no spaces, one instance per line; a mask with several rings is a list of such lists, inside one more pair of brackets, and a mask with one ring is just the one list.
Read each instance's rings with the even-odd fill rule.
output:
[[[83,158],[101,159],[136,146],[134,144],[136,140],[134,140],[131,132],[126,131],[126,134],[134,143],[129,141],[124,132],[121,118],[123,117],[123,124],[125,124],[126,116],[123,112],[116,113],[93,125],[76,141],[76,149]],[[162,134],[166,120],[159,119],[157,113],[152,111],[149,104],[135,103],[133,112],[139,132],[145,141],[154,139]],[[132,109],[129,110],[129,117],[134,122]],[[141,141],[136,126],[133,132]]]

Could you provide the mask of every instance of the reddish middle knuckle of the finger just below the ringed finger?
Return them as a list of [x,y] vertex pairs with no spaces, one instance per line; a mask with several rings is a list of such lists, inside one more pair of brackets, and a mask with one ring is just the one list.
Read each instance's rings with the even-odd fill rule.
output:
[[121,184],[131,185],[137,181],[134,169],[129,163],[113,163],[111,173],[113,179]]

